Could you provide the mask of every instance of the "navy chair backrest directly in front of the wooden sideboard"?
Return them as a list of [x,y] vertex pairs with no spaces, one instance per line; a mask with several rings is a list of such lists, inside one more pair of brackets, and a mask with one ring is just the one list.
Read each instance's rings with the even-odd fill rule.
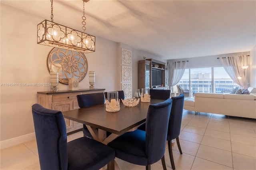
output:
[[90,93],[76,96],[80,108],[100,105],[105,103],[104,93]]

